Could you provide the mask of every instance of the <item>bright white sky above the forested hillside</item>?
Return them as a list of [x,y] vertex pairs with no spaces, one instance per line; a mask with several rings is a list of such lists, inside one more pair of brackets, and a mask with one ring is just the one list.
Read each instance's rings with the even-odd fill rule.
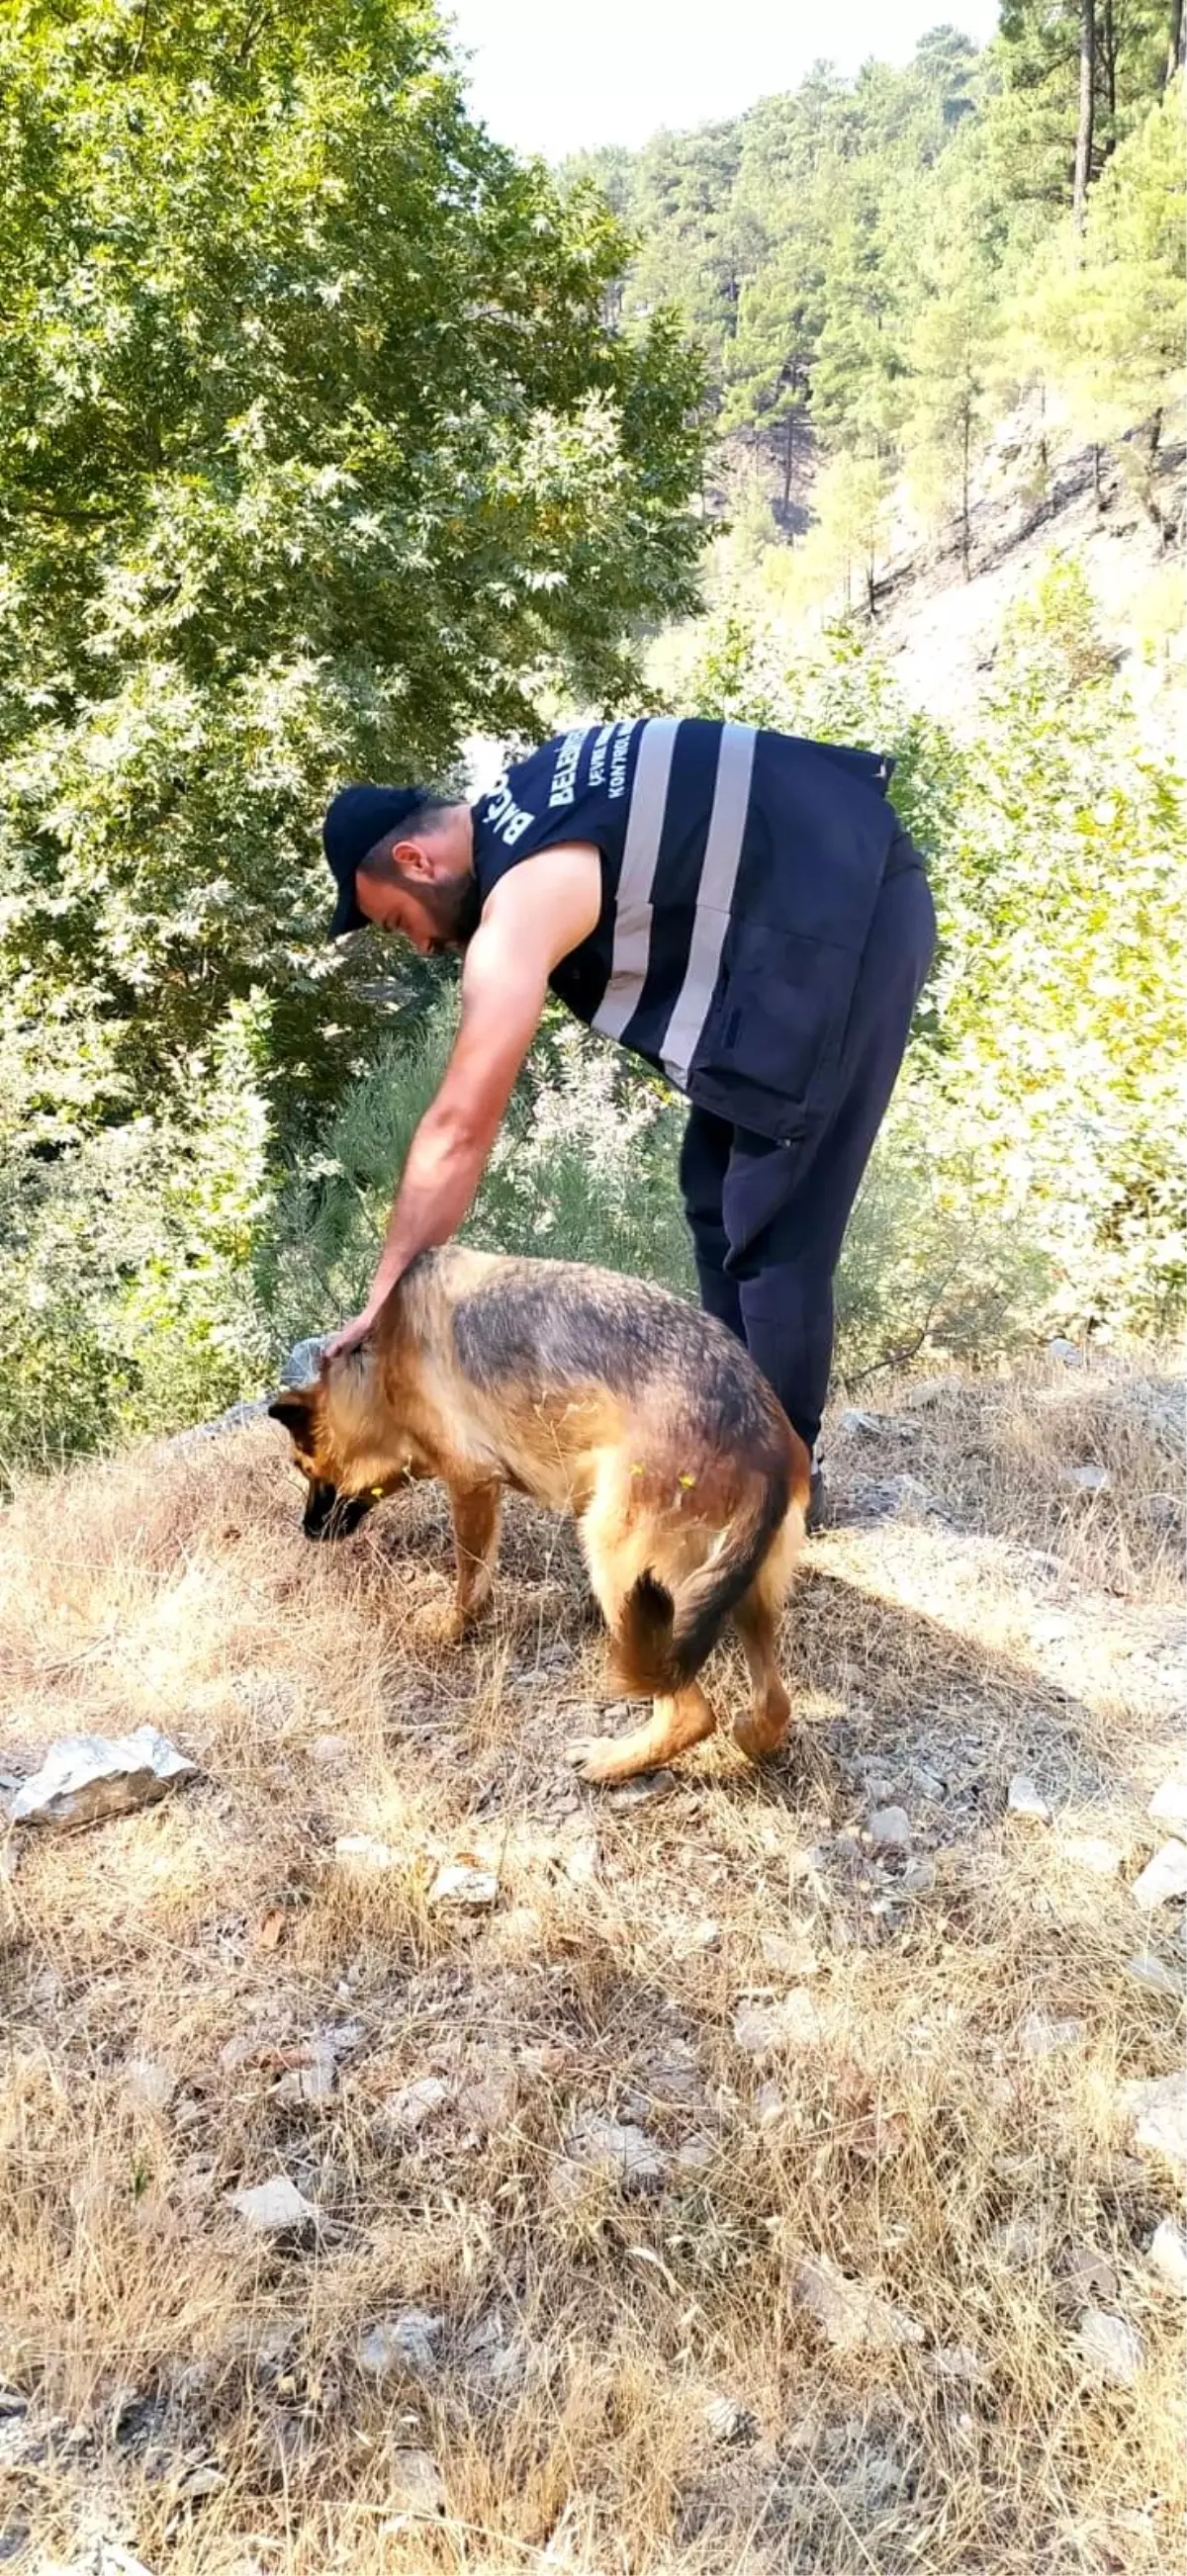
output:
[[641,144],[657,126],[736,116],[790,90],[824,54],[906,62],[930,26],[984,44],[996,0],[445,0],[471,54],[471,100],[505,144],[561,160],[582,144]]

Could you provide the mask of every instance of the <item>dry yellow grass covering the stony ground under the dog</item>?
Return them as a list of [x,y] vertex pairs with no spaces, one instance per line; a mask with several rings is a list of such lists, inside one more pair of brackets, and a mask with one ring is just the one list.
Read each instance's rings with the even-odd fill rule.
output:
[[[819,1759],[757,1777],[718,1739],[636,1811],[564,1777],[600,1638],[569,1533],[525,1507],[494,1625],[440,1656],[415,1643],[440,1502],[306,1548],[270,1427],[21,1497],[5,1759],[149,1718],[203,1775],[0,1880],[0,2380],[28,2401],[0,2414],[0,2548],[44,2571],[108,2535],[152,2576],[1179,2576],[1187,2308],[1146,2267],[1177,2184],[1117,2081],[1187,2058],[1184,2009],[1125,1968],[1184,1705],[1184,1540],[1148,1502],[1184,1497],[1184,1453],[1172,1378],[901,1388],[837,1473],[906,1468],[950,1517],[911,1486],[811,1551],[790,1664]],[[1051,1829],[1004,1816],[1014,1770]],[[881,1795],[914,1883],[863,1839]],[[397,1865],[348,1875],[358,1832]],[[500,1870],[492,1917],[427,1904],[461,1852]],[[1187,1971],[1166,1917],[1154,1947]],[[739,2004],[788,1989],[819,2009],[757,2061]],[[1027,2056],[1030,2012],[1081,2035]],[[324,2030],[337,2089],[286,2099]],[[497,2087],[391,2138],[379,2105],[425,2074]],[[587,2110],[641,2120],[662,2190],[556,2187]],[[317,2202],[304,2244],[227,2205],[273,2172]],[[922,2339],[832,2349],[808,2254]],[[1143,2336],[1128,2388],[1076,2357],[1089,2298]],[[363,2329],[409,2306],[443,2318],[435,2372],[366,2378]],[[749,2442],[713,2445],[713,2396]],[[399,2517],[402,2447],[440,2463],[440,2522]]]

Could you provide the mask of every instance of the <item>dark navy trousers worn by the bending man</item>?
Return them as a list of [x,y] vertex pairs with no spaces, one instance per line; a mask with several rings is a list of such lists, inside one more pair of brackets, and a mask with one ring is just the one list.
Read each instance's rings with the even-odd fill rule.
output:
[[772,1144],[700,1108],[685,1128],[680,1188],[700,1303],[747,1345],[808,1450],[829,1391],[832,1280],[845,1226],[932,951],[932,894],[904,832],[857,969],[834,1095],[811,1136]]

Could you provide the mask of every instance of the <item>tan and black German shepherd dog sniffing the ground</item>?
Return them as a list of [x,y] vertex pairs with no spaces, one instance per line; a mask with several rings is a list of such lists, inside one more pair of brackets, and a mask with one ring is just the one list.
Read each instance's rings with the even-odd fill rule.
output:
[[412,1262],[358,1350],[268,1409],[309,1479],[306,1538],[355,1530],[404,1476],[443,1479],[451,1636],[487,1607],[507,1486],[577,1515],[621,1680],[654,1698],[633,1734],[566,1747],[584,1780],[713,1731],[698,1672],[729,1618],[752,1677],[734,1736],[752,1759],[783,1744],[775,1638],[808,1453],[713,1316],[610,1270],[451,1244]]

